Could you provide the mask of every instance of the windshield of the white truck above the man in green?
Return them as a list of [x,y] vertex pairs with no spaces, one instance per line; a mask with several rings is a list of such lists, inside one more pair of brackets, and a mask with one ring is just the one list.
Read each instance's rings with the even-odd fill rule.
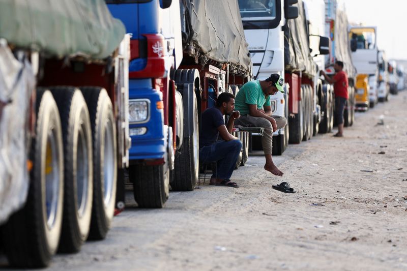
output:
[[239,0],[245,29],[275,28],[281,19],[280,0]]

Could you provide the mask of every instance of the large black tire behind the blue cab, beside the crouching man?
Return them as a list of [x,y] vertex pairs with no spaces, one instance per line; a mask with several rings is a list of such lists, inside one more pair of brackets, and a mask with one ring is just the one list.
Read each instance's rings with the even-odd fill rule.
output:
[[[177,70],[173,77],[184,86],[182,97],[184,104],[184,140],[175,159],[174,178],[171,188],[174,191],[192,191],[198,181],[199,172],[199,115],[195,94],[197,70]],[[183,84],[184,83],[184,84]],[[187,87],[188,86],[188,87]]]

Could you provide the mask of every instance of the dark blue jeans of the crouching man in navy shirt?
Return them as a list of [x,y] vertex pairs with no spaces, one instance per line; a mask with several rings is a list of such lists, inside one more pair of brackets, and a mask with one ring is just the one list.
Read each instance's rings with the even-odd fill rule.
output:
[[239,139],[216,141],[212,145],[199,149],[199,162],[210,163],[216,161],[216,169],[212,169],[212,177],[230,179],[241,149],[242,142]]

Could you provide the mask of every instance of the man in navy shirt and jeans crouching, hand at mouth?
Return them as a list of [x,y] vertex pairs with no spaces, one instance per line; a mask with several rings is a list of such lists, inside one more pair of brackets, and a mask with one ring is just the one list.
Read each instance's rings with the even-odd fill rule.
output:
[[[231,93],[221,93],[216,105],[208,108],[201,116],[201,133],[199,137],[199,161],[203,163],[215,162],[216,170],[210,180],[211,185],[228,186],[238,188],[231,182],[230,176],[242,149],[242,142],[231,135],[235,119],[239,118],[239,112],[230,115],[227,126],[223,115],[230,114],[235,109],[235,96]],[[220,139],[218,140],[218,136]]]

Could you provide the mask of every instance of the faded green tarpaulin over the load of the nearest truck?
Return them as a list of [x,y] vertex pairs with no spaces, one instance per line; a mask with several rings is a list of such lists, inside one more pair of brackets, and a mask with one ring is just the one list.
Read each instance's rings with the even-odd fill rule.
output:
[[51,56],[103,59],[125,33],[103,0],[0,0],[0,38]]

